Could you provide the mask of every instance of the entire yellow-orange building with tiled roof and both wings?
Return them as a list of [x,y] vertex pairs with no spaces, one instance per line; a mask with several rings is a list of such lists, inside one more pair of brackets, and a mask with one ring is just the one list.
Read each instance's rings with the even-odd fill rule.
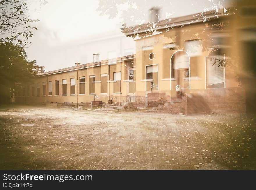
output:
[[[146,107],[147,101],[154,101],[167,102],[171,110],[172,102],[182,102],[185,95],[186,113],[245,112],[246,89],[237,77],[241,74],[237,64],[251,70],[241,44],[246,40],[255,44],[252,26],[256,23],[245,19],[242,12],[233,15],[231,11],[160,21],[156,34],[148,25],[126,28],[123,32],[127,36],[140,36],[135,55],[99,61],[95,54],[93,63],[40,73],[25,90],[15,91],[12,102],[70,102],[79,106],[112,100],[143,102]],[[162,103],[154,104],[159,105]]]

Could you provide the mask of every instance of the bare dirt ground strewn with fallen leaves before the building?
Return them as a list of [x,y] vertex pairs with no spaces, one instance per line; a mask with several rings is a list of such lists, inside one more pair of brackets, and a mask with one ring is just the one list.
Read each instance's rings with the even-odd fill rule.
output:
[[0,107],[0,169],[256,169],[255,121]]

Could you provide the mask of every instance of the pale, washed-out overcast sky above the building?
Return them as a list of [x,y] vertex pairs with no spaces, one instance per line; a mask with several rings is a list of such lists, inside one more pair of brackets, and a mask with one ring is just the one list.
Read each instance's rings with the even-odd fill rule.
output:
[[[100,59],[108,58],[108,50],[116,51],[115,55],[123,55],[125,50],[135,49],[135,41],[126,38],[120,31],[121,22],[127,26],[148,21],[148,10],[154,6],[161,8],[160,18],[178,17],[213,9],[212,5],[228,3],[215,0],[173,0],[173,1],[116,1],[118,14],[115,18],[100,15],[99,1],[87,0],[48,0],[39,12],[37,5],[31,5],[30,18],[39,19],[33,23],[38,30],[26,48],[29,60],[36,60],[45,71],[74,66],[75,62],[87,63],[93,61],[93,53],[100,53]],[[123,3],[124,2],[124,3]],[[34,7],[33,7],[34,6]],[[115,6],[113,1],[104,4],[106,8]],[[128,9],[132,15],[128,13]],[[111,16],[111,15],[110,15]],[[110,40],[111,39],[111,40]],[[94,42],[95,41],[95,42]],[[111,49],[111,41],[121,43],[123,50]],[[118,42],[119,41],[119,42]],[[102,42],[102,43],[101,43]],[[135,52],[134,52],[135,53]]]

